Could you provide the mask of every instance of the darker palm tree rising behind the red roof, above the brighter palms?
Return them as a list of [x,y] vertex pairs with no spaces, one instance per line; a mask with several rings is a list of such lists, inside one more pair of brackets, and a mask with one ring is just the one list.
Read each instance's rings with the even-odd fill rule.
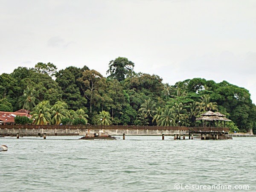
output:
[[23,109],[32,111],[32,109],[35,107],[35,102],[38,101],[38,99],[35,98],[35,89],[26,87],[26,89],[23,91],[23,95],[20,96],[19,100],[20,106],[23,106]]

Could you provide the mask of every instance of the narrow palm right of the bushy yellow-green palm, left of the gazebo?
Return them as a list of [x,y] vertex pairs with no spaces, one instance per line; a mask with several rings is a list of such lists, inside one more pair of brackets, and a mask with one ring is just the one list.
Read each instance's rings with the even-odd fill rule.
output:
[[172,107],[172,113],[174,115],[175,122],[178,122],[178,126],[187,125],[188,115],[187,110],[184,108],[183,103],[175,103],[175,106]]

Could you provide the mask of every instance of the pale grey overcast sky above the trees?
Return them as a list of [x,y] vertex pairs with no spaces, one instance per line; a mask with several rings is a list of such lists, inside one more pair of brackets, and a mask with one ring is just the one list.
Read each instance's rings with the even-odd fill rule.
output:
[[256,0],[0,0],[0,74],[51,62],[99,71],[121,56],[164,83],[196,77],[256,103]]

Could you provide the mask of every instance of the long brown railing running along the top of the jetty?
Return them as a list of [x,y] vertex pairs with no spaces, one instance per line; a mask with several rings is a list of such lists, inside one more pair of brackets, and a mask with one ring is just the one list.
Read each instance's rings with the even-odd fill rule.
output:
[[230,131],[223,127],[137,126],[137,125],[0,125],[0,129],[123,129],[172,131]]

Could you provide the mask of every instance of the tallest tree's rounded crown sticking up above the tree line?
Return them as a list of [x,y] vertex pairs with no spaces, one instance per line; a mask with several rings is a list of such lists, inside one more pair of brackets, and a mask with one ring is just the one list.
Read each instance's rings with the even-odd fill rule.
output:
[[118,57],[110,61],[108,67],[107,74],[110,73],[108,78],[116,79],[117,81],[123,81],[126,77],[131,77],[134,74],[134,63],[125,57]]

